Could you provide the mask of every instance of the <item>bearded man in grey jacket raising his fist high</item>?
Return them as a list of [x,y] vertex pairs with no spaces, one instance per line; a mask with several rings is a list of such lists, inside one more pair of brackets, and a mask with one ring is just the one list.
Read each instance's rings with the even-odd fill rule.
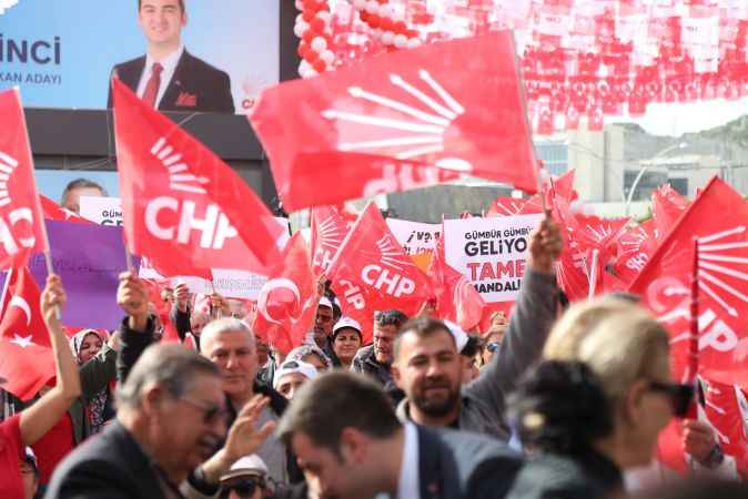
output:
[[529,243],[524,281],[506,335],[491,363],[462,386],[463,360],[444,323],[418,318],[395,339],[393,374],[407,398],[397,407],[402,420],[452,427],[508,441],[505,395],[536,361],[557,312],[554,263],[562,249],[558,226],[540,223]]

